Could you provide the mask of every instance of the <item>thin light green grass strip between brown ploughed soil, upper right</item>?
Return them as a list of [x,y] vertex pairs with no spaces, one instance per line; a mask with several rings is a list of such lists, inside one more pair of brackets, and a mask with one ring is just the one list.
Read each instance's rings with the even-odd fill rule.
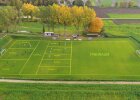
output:
[[140,19],[140,14],[108,14],[110,18],[134,18],[134,19]]

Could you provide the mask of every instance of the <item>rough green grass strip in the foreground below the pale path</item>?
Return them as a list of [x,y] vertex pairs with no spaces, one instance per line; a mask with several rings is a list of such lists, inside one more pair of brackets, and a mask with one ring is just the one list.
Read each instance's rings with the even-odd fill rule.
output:
[[140,85],[0,83],[1,100],[139,100]]

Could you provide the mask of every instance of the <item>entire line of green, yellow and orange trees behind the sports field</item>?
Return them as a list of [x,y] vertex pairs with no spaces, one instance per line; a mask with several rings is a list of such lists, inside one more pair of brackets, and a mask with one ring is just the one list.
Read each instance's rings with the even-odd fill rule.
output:
[[[0,9],[0,31],[6,30],[8,32],[10,27],[20,23],[23,18],[26,18],[26,21],[34,19],[40,21],[43,32],[45,32],[45,25],[47,25],[48,30],[52,29],[53,31],[56,25],[63,25],[64,33],[67,26],[74,26],[78,33],[81,27],[84,31],[89,32],[100,32],[103,27],[103,22],[96,18],[94,9],[87,6],[69,7],[57,4],[35,6],[31,3],[22,4],[20,0],[16,0],[13,2],[13,6]],[[88,28],[89,25],[91,25],[90,28]],[[99,28],[98,31],[94,30],[95,28]]]

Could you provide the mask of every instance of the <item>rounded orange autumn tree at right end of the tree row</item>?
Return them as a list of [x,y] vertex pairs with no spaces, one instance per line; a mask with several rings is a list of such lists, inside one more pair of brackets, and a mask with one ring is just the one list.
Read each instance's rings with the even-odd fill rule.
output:
[[90,33],[100,33],[102,28],[104,26],[104,23],[102,21],[102,19],[96,17],[93,18],[92,21],[90,22],[89,28],[88,28],[88,32]]

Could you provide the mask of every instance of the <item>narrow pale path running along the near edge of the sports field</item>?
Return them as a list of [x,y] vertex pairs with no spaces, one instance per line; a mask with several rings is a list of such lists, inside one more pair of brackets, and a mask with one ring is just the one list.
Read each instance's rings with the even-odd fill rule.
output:
[[0,83],[43,83],[43,84],[120,84],[120,85],[140,85],[140,82],[126,81],[33,81],[33,80],[13,80],[0,79]]

